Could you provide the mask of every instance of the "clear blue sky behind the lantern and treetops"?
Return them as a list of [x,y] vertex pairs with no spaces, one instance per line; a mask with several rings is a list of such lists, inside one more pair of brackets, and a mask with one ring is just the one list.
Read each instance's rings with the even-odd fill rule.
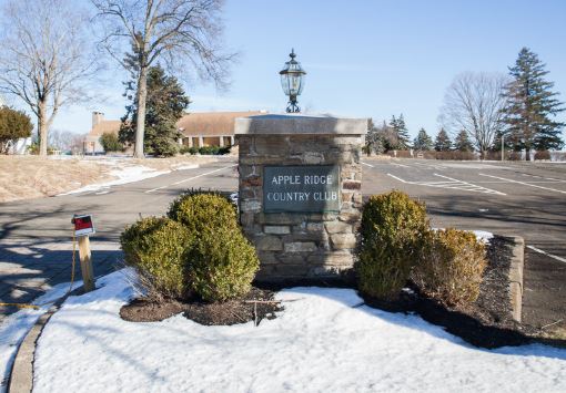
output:
[[[507,72],[522,46],[537,53],[566,101],[566,1],[228,0],[226,46],[241,52],[232,86],[186,85],[191,111],[284,111],[279,71],[291,48],[307,72],[300,105],[315,113],[391,118],[436,135],[446,87],[464,71]],[[111,100],[60,113],[54,126],[87,132],[90,111],[123,114],[117,71]],[[113,99],[112,99],[113,96]],[[560,116],[563,120],[565,115]]]

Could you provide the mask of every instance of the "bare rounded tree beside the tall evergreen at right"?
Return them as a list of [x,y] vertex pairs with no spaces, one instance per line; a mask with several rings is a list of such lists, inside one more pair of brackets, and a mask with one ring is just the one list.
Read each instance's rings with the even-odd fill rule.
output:
[[453,136],[464,130],[482,158],[503,128],[503,89],[507,83],[499,73],[466,72],[457,75],[446,90],[439,121]]

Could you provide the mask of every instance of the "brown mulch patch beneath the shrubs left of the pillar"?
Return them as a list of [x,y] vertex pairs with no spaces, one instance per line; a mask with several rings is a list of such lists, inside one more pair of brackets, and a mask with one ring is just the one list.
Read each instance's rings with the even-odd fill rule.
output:
[[205,325],[229,325],[250,321],[259,324],[264,318],[274,319],[275,312],[282,310],[279,302],[272,302],[273,294],[274,292],[270,290],[252,288],[244,299],[223,303],[204,303],[199,300],[155,302],[139,298],[123,306],[120,317],[131,322],[158,322],[182,312],[185,318]]

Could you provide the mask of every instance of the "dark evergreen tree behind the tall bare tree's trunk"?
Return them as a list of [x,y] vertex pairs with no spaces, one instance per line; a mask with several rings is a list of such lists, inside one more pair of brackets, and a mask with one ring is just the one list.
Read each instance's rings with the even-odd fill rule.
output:
[[[127,58],[128,60],[128,58]],[[132,69],[132,74],[135,70]],[[134,83],[125,82],[124,95],[131,101],[122,117],[119,138],[123,144],[134,144],[138,100],[133,96]],[[144,152],[155,156],[172,156],[179,151],[182,134],[176,122],[183,116],[190,100],[176,77],[165,75],[161,66],[152,66],[148,73],[148,101],[145,106]]]

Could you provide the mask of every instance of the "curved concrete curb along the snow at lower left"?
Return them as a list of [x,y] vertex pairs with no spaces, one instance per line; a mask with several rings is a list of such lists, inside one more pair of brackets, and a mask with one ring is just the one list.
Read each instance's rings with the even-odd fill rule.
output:
[[18,348],[18,352],[16,352],[16,358],[10,370],[7,390],[8,393],[31,393],[31,390],[33,389],[33,360],[39,337],[41,335],[41,332],[43,331],[43,328],[48,323],[51,316],[53,316],[59,310],[67,298],[70,296],[75,296],[81,291],[82,286],[74,289],[71,293],[68,293],[61,299],[57,300],[46,313],[38,318],[28,334],[26,334],[23,341]]

